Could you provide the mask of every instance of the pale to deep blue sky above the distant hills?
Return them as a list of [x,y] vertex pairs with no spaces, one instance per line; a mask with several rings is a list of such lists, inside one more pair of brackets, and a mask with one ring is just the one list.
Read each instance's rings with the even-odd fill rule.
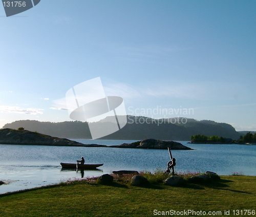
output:
[[0,127],[72,121],[67,91],[100,77],[129,115],[256,131],[255,11],[254,0],[41,0],[9,17],[0,6]]

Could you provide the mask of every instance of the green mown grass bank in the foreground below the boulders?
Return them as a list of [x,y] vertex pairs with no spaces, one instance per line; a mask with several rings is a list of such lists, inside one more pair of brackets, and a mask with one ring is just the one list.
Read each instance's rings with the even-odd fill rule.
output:
[[[76,182],[0,196],[1,216],[8,217],[158,216],[154,214],[169,210],[194,210],[198,212],[194,216],[200,216],[200,211],[220,211],[218,216],[227,216],[224,211],[230,210],[234,216],[232,210],[256,210],[255,204],[256,177],[250,176],[222,176],[211,184],[182,187]],[[239,212],[236,216],[244,216]]]

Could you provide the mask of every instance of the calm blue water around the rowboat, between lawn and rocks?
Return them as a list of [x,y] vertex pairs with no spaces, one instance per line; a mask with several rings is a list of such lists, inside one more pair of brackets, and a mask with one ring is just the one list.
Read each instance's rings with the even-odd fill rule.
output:
[[[76,140],[84,144],[115,145],[133,141]],[[256,176],[256,145],[182,144],[195,150],[172,150],[178,171],[214,171],[219,175],[234,172]],[[1,145],[0,180],[8,183],[0,186],[0,193],[81,178],[81,172],[62,170],[60,162],[75,163],[81,156],[86,163],[104,163],[100,170],[85,170],[84,178],[101,176],[114,170],[166,169],[169,161],[167,150],[106,148],[106,147],[58,147],[38,145]]]

